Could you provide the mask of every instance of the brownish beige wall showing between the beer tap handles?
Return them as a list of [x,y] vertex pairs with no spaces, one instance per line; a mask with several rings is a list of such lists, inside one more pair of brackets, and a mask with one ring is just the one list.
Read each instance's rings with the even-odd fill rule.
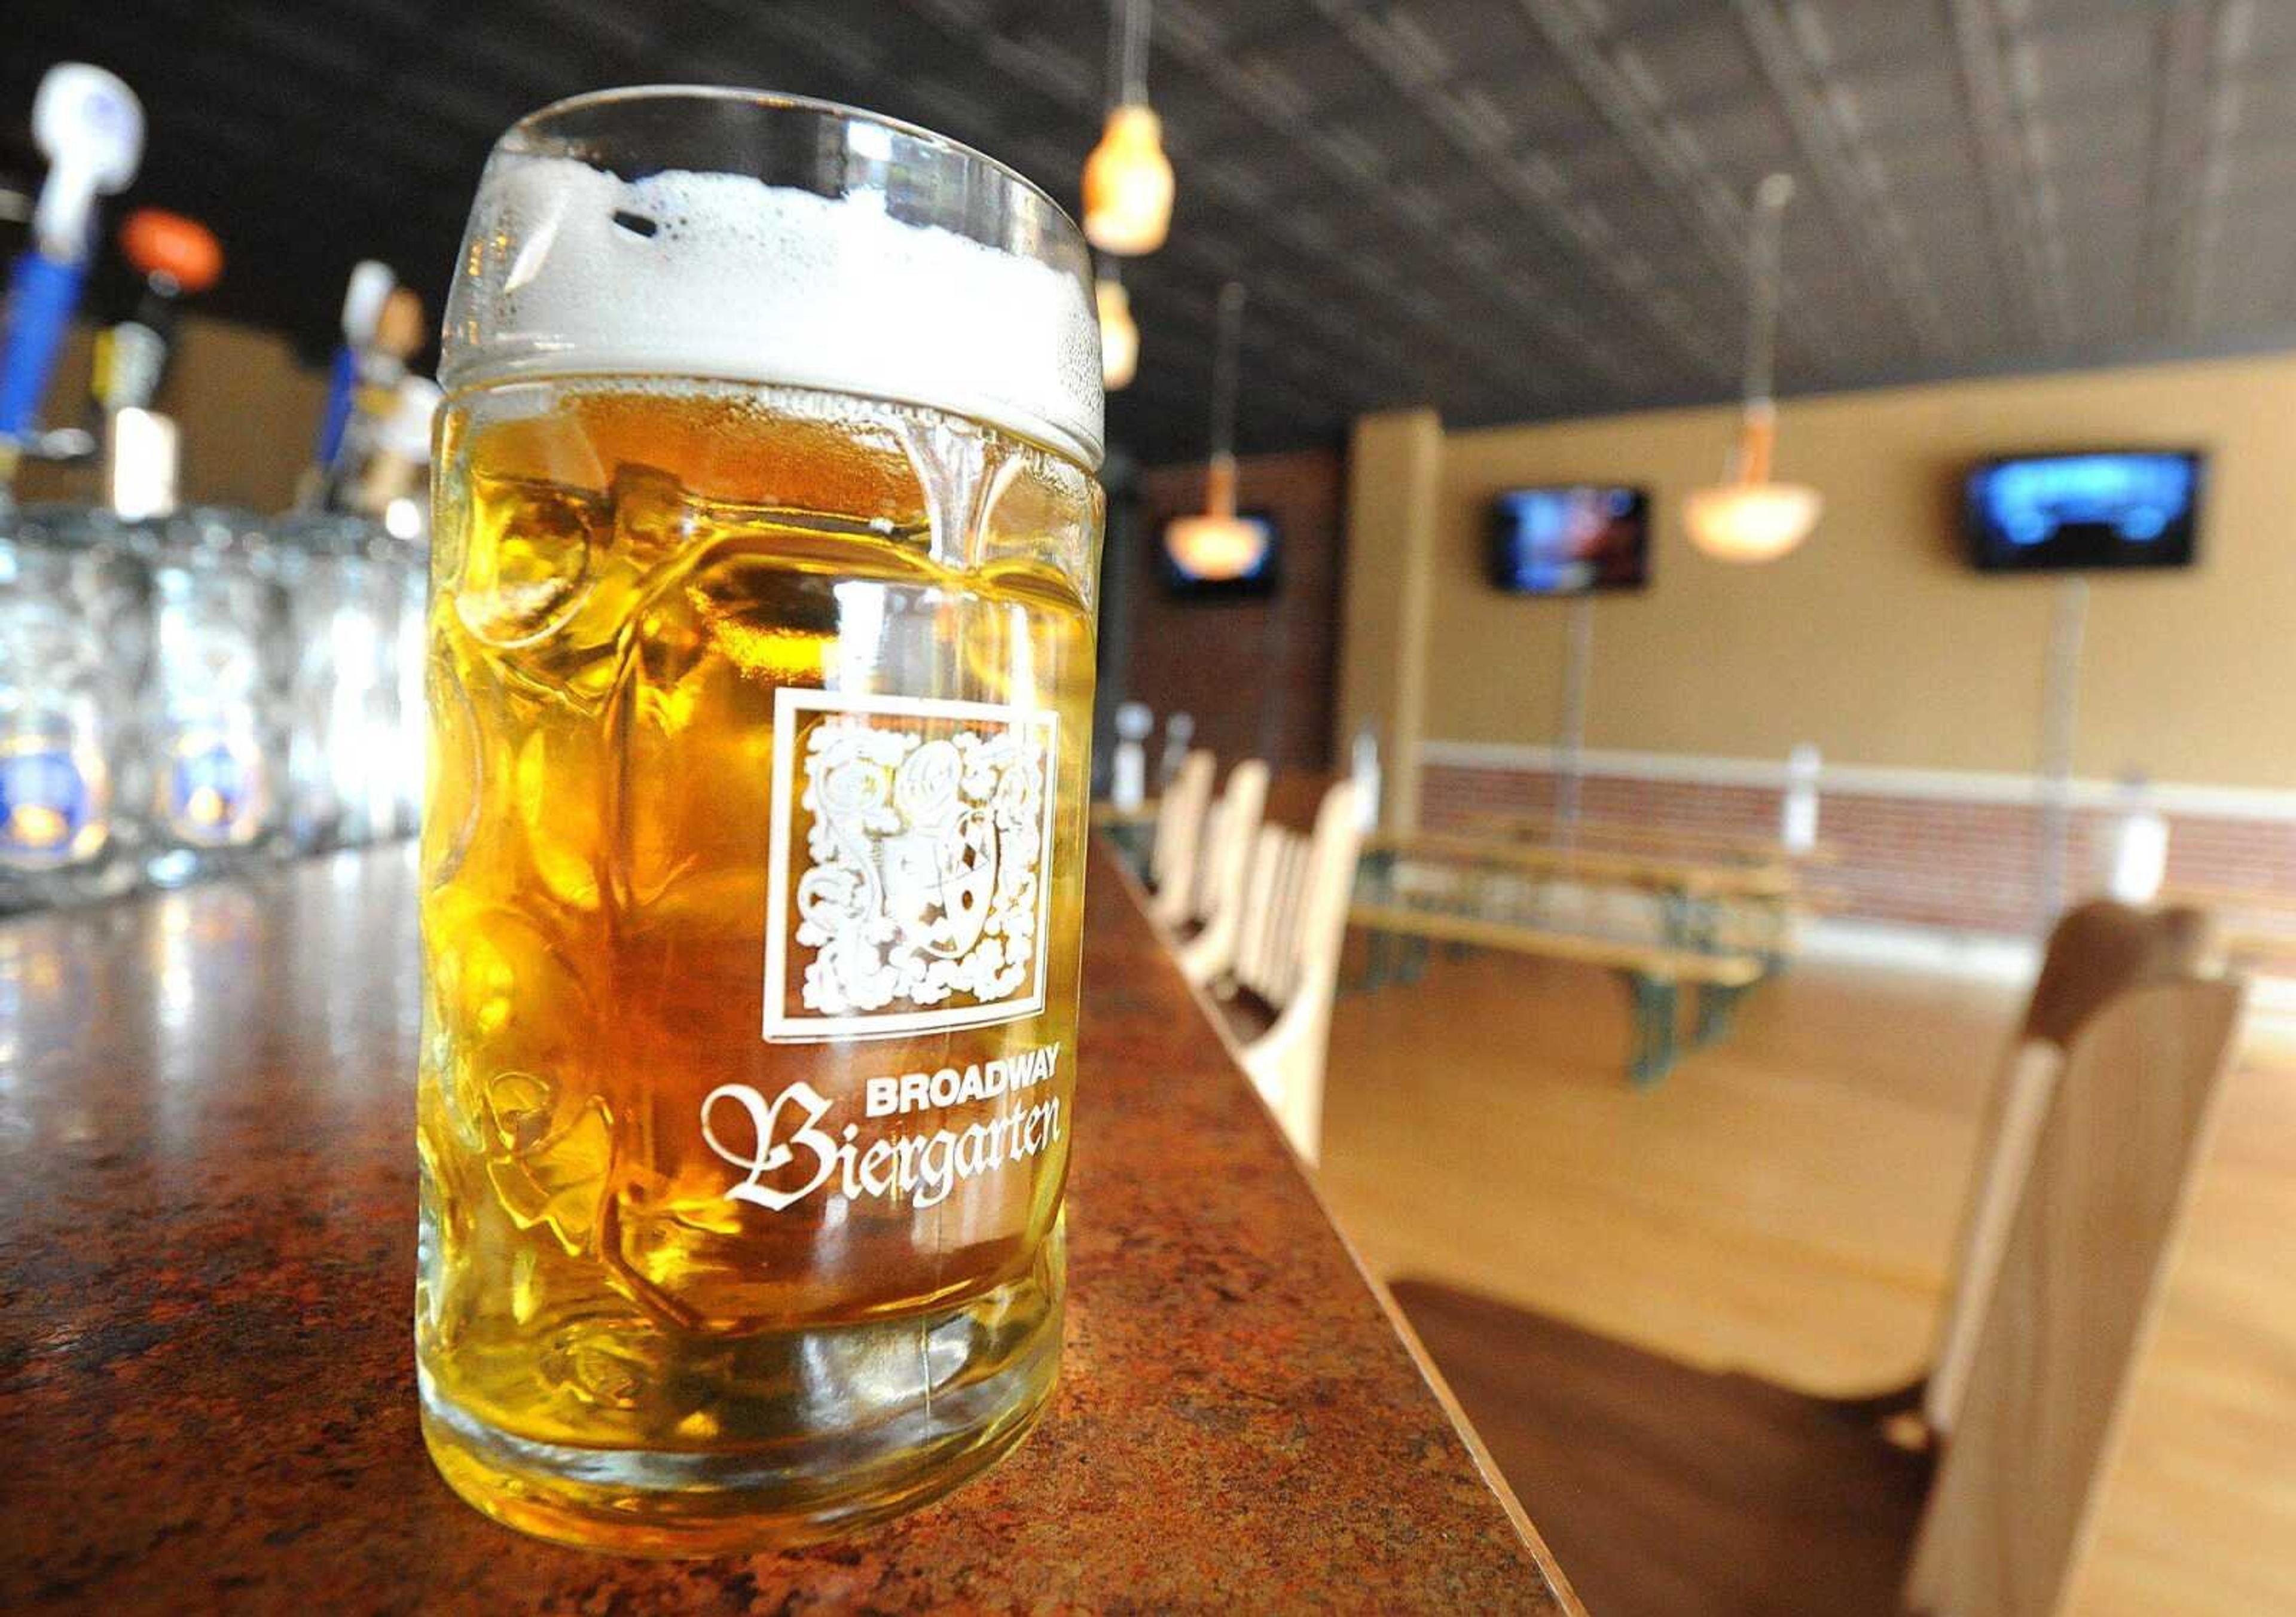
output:
[[[51,427],[83,420],[90,335],[87,326],[76,328],[57,361],[44,416]],[[184,430],[184,501],[285,508],[310,464],[324,402],[326,372],[298,365],[287,338],[186,315],[161,390],[161,409]],[[94,492],[92,466],[30,464],[18,480],[25,501],[92,498]]]

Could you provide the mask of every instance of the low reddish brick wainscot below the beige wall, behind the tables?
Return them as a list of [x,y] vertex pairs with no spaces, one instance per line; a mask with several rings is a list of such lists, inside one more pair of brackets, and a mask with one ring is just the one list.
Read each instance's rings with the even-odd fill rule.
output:
[[[1430,765],[1421,776],[1428,829],[1552,806],[1554,776],[1545,769]],[[1580,781],[1580,813],[1589,820],[1777,836],[1777,808],[1779,792],[1763,786],[1621,774]],[[2094,891],[2110,820],[2110,811],[2073,811],[2069,891]],[[2043,923],[2041,836],[2037,804],[1828,790],[1818,799],[1818,838],[1839,861],[1812,871],[1812,887],[1830,914],[2030,935]],[[2172,813],[2167,880],[2296,896],[2296,822]]]

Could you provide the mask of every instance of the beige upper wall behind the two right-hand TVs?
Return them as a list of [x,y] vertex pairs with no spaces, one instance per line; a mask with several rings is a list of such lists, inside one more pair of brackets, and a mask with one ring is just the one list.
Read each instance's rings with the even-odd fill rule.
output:
[[[1963,565],[1961,471],[2200,446],[2200,567],[2092,574],[2073,767],[2296,788],[2296,356],[1789,402],[1777,475],[1818,485],[1825,517],[1766,567],[1708,560],[1683,533],[1683,494],[1715,480],[1729,432],[1727,409],[1681,409],[1444,436],[1426,737],[1557,740],[1568,606],[1488,588],[1483,510],[1511,485],[1619,480],[1653,492],[1653,583],[1596,606],[1587,746],[1782,758],[1816,742],[1841,765],[2032,769],[2060,583]],[[1357,556],[1380,542],[1350,537]]]

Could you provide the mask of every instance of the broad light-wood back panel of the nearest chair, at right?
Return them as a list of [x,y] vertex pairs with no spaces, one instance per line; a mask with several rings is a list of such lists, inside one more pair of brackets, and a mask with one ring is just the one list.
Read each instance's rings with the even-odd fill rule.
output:
[[2064,1608],[2239,1011],[2236,981],[2167,978],[2124,990],[2073,1034],[1915,1539],[1913,1610]]

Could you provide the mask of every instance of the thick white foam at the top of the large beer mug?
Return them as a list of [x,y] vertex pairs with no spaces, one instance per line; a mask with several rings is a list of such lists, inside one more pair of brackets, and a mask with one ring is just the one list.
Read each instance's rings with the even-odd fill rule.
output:
[[445,333],[448,388],[726,377],[932,404],[1088,464],[1102,450],[1100,328],[1079,280],[889,218],[872,193],[496,154]]

